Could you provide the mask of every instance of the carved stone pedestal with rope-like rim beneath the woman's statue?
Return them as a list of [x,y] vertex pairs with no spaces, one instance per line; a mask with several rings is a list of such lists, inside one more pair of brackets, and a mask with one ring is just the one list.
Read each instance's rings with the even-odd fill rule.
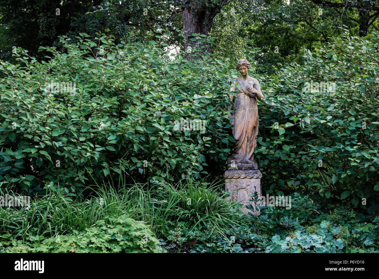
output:
[[[254,215],[259,215],[259,208],[255,206],[254,202],[249,201],[252,199],[254,192],[258,193],[261,197],[262,190],[260,179],[262,172],[257,169],[246,170],[246,167],[233,166],[233,169],[228,169],[224,173],[225,189],[231,193],[229,200],[238,201],[243,204],[242,211],[247,214],[251,212]],[[255,211],[246,208],[247,204],[251,204]]]

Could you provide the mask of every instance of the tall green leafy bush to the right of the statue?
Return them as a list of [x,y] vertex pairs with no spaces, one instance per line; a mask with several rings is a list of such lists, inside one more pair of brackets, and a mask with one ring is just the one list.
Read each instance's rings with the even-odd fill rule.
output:
[[300,188],[362,208],[377,202],[378,47],[377,33],[336,38],[262,86],[255,158],[267,193]]

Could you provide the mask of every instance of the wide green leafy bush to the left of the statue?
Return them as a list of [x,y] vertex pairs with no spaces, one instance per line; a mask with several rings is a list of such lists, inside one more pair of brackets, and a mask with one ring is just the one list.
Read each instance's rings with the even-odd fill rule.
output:
[[[67,53],[41,47],[48,62],[22,49],[15,55],[25,66],[1,61],[0,179],[28,192],[53,182],[81,194],[92,173],[199,178],[206,157],[224,162],[233,139],[223,95],[236,71],[194,59],[196,49],[192,60],[171,60],[162,36],[130,34],[116,46],[111,36],[80,34],[77,44],[61,38]],[[181,119],[195,130],[181,129]]]

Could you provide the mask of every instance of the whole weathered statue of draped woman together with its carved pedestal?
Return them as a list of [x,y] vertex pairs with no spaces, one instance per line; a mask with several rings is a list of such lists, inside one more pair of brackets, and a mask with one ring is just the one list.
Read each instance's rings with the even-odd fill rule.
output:
[[[236,91],[236,96],[230,95],[230,101],[233,102],[234,99],[234,107],[233,114],[229,114],[236,143],[227,160],[225,189],[230,192],[228,199],[241,202],[243,213],[259,215],[259,207],[252,200],[252,195],[257,193],[260,197],[262,194],[262,172],[258,170],[258,164],[254,160],[254,149],[257,146],[259,126],[257,99],[262,100],[264,96],[258,80],[247,74],[249,61],[239,60],[236,68],[241,76],[233,80],[230,88],[230,92]],[[241,86],[237,87],[235,83]],[[226,108],[232,110],[231,105]]]

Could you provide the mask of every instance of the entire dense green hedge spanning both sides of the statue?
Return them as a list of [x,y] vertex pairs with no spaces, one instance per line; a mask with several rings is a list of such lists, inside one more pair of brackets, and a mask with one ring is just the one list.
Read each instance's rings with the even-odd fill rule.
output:
[[[90,174],[162,180],[168,171],[174,180],[222,173],[233,147],[225,105],[235,61],[188,61],[189,53],[171,60],[160,38],[131,34],[115,46],[104,35],[93,42],[81,34],[77,44],[62,38],[67,53],[42,48],[52,53],[47,63],[21,49],[26,66],[1,62],[3,179],[30,192],[59,183],[78,193]],[[251,68],[267,96],[255,158],[268,192],[302,188],[356,206],[374,202],[378,46],[377,37],[337,38],[318,53],[305,50],[304,65],[289,65],[276,79]],[[76,82],[76,91],[47,92],[51,80]],[[317,82],[334,91],[307,91]],[[204,121],[205,130],[175,129],[181,118]]]

